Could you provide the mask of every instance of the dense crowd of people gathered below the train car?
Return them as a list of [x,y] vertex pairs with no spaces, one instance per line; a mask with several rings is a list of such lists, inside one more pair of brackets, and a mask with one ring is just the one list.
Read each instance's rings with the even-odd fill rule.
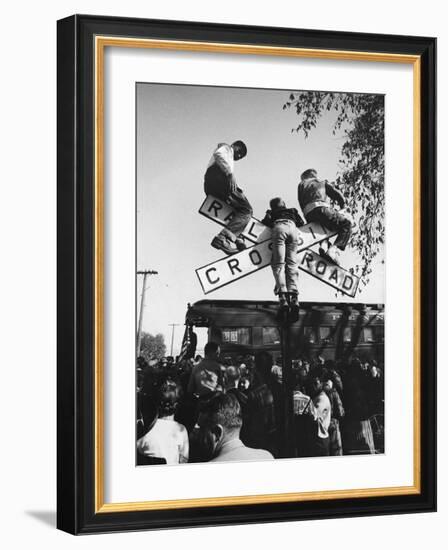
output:
[[204,355],[139,358],[138,464],[384,452],[376,361],[296,358],[285,377],[281,357],[265,351],[221,357],[209,342]]

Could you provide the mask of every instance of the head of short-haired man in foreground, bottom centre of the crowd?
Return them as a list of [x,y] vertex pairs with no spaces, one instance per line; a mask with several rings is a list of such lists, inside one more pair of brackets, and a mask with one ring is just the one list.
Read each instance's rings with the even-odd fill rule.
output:
[[198,425],[201,455],[208,461],[225,443],[239,439],[243,418],[238,399],[231,393],[214,395],[201,405]]

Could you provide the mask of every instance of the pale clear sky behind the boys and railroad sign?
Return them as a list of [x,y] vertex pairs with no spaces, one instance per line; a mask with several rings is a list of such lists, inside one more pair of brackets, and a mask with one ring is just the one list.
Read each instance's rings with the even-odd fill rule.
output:
[[[283,110],[291,90],[137,84],[137,270],[147,279],[143,331],[165,336],[168,353],[179,352],[187,303],[207,299],[273,300],[270,268],[204,295],[195,269],[223,256],[210,246],[220,227],[198,213],[205,195],[204,172],[220,142],[243,140],[247,156],[235,163],[235,176],[254,210],[263,217],[269,200],[281,196],[298,208],[300,174],[315,168],[332,181],[339,170],[343,135],[333,135],[335,113],[325,112],[305,139],[291,132],[297,115]],[[334,289],[300,272],[302,301],[384,303],[384,251],[370,282],[355,299],[336,297]],[[346,269],[356,256],[346,250]],[[362,286],[362,285],[361,285]],[[142,277],[137,278],[137,315]],[[202,336],[203,338],[203,336]],[[200,335],[201,339],[201,335]],[[198,348],[201,348],[201,342]]]

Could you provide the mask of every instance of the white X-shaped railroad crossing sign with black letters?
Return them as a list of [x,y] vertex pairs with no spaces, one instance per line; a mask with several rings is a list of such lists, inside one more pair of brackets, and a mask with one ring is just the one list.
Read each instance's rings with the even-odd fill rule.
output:
[[[199,213],[222,226],[226,226],[234,215],[228,204],[212,196],[206,197]],[[309,223],[300,227],[298,233],[299,269],[347,296],[354,297],[358,289],[359,277],[310,250],[312,246],[336,235],[336,232],[330,232],[318,223]],[[209,294],[271,264],[272,241],[269,227],[252,218],[241,236],[251,246],[232,256],[225,256],[196,269],[204,294]]]

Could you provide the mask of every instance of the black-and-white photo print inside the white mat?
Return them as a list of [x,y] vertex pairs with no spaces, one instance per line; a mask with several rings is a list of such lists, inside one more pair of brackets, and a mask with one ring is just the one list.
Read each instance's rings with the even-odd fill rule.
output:
[[136,464],[385,452],[381,94],[136,84]]

